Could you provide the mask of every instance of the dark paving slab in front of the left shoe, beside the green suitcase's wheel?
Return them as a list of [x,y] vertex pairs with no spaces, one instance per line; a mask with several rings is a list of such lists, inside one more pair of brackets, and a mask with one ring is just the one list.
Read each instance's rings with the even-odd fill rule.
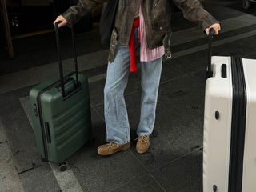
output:
[[86,191],[110,191],[146,174],[129,151],[101,158],[95,149],[84,149],[69,163],[75,166],[74,174]]

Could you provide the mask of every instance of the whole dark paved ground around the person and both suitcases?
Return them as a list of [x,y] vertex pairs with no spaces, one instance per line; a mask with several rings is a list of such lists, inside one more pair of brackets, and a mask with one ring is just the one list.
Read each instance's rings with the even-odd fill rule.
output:
[[[230,21],[234,22],[240,16],[248,16],[239,10],[234,10],[232,7],[223,7],[223,4],[218,2],[214,1],[211,5],[207,4],[207,8],[212,9],[213,14],[222,20],[231,19]],[[234,2],[230,1],[226,2],[225,5],[233,4]],[[250,10],[250,14],[252,12],[253,10]],[[250,18],[254,19],[252,15],[250,15]],[[174,31],[177,33],[180,30],[186,30],[188,27],[194,27],[194,24],[184,22],[181,14],[174,14],[173,19],[177,23],[182,23],[182,25],[177,25],[177,23],[174,25]],[[229,23],[235,28],[232,31],[226,29],[226,32],[215,38],[214,41],[226,41],[230,37],[234,39],[214,46],[214,54],[228,55],[234,52],[247,58],[256,58],[254,43],[256,35],[243,36],[247,32],[255,30],[254,22],[254,20],[251,20],[249,26],[246,23],[242,23],[241,26],[235,26],[238,24],[236,22]],[[191,29],[191,31],[194,30]],[[77,189],[80,189],[79,192],[82,190],[88,192],[201,192],[207,51],[202,48],[194,52],[188,52],[196,50],[198,46],[206,45],[206,38],[201,38],[199,34],[194,35],[200,39],[193,38],[194,40],[192,39],[190,42],[178,39],[177,42],[182,44],[174,46],[174,54],[176,50],[177,52],[184,51],[183,54],[163,63],[154,133],[151,137],[150,150],[143,155],[137,154],[135,151],[134,141],[140,115],[140,73],[130,74],[130,81],[126,88],[126,106],[130,118],[132,139],[130,150],[108,158],[102,158],[97,154],[97,147],[106,142],[106,127],[103,115],[106,62],[101,58],[106,57],[106,50],[90,55],[82,55],[79,58],[82,62],[80,67],[83,70],[82,74],[94,79],[90,83],[94,142],[87,143],[67,159],[70,172],[65,174],[65,177],[72,177],[70,180],[65,177],[61,178],[62,176],[59,173],[56,175],[58,170],[53,171],[50,164],[41,161],[41,156],[36,152],[34,133],[30,125],[31,121],[29,121],[28,92],[34,84],[49,75],[49,66],[53,64],[33,69],[37,70],[38,81],[34,81],[32,76],[26,77],[27,74],[30,74],[30,71],[33,71],[31,69],[9,76],[1,76],[0,79],[6,84],[2,86],[4,90],[0,90],[1,93],[5,93],[0,94],[0,151],[1,154],[5,154],[0,158],[0,190],[3,187],[2,181],[4,180],[2,178],[6,176],[2,173],[6,173],[5,171],[8,169],[12,174],[7,175],[9,178],[6,178],[9,179],[8,181],[14,179],[13,184],[16,189],[20,187],[18,192],[22,192],[23,189],[29,192],[69,192],[68,189],[74,189],[74,187],[69,186],[72,183],[77,183]],[[82,37],[78,38],[83,39]],[[68,42],[66,43],[68,44]],[[24,55],[22,55],[21,61],[26,62],[26,57],[23,57]],[[88,58],[94,59],[91,62],[95,63],[95,66],[89,65]],[[52,55],[47,59],[49,62],[54,61]],[[68,60],[66,63],[69,69],[70,62],[71,60]],[[28,65],[30,64],[28,63]],[[26,66],[24,67],[26,68]],[[22,84],[21,77],[26,78],[24,82],[26,85]],[[8,150],[10,150],[9,154]],[[6,166],[6,170],[3,171],[2,166]],[[54,167],[56,169],[57,165]],[[60,181],[62,183],[59,183]],[[6,186],[4,187],[9,187],[10,191],[15,191],[11,190],[14,188],[8,186],[8,183],[5,182]]]

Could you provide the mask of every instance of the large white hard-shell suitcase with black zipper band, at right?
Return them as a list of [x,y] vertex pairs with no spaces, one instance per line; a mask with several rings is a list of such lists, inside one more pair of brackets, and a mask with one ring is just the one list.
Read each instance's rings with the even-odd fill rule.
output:
[[[211,51],[210,51],[211,52]],[[256,61],[213,57],[206,81],[203,191],[256,191]]]

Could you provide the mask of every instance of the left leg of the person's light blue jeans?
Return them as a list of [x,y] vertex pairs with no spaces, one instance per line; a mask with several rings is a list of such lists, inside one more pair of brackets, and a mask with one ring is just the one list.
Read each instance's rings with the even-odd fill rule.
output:
[[128,46],[118,45],[114,62],[109,63],[104,88],[104,114],[107,142],[119,145],[130,142],[130,126],[124,90],[127,86],[130,69]]

